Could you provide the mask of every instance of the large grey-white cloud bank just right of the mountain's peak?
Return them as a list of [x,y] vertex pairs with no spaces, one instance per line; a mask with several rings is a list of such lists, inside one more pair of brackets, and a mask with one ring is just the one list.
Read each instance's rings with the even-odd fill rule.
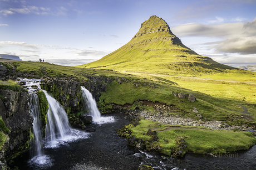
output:
[[[216,53],[256,54],[256,18],[252,22],[225,24],[190,23],[172,28],[178,37],[211,37],[223,40],[210,45]],[[206,45],[206,44],[205,44]]]

